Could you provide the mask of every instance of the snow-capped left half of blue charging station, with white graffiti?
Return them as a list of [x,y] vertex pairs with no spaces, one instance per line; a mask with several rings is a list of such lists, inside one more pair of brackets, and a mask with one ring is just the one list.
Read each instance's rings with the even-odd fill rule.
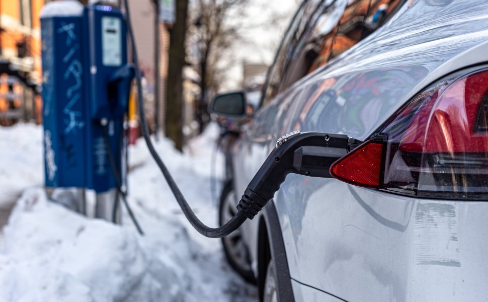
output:
[[53,2],[41,15],[44,163],[47,187],[87,183],[84,7]]

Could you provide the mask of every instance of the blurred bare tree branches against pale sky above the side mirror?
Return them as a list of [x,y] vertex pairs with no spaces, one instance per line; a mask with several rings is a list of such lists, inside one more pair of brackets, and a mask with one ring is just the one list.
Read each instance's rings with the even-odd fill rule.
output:
[[[208,101],[220,89],[228,68],[242,59],[233,50],[252,50],[263,63],[269,61],[269,53],[277,48],[289,16],[290,12],[277,10],[270,1],[193,0],[191,19],[200,40],[197,69],[203,99]],[[275,34],[265,43],[259,42],[253,35],[257,29]]]

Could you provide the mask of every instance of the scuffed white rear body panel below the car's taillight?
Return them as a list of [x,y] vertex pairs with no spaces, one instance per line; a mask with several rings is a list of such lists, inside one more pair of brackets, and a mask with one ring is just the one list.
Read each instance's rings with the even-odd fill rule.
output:
[[290,177],[284,186],[294,190],[276,196],[292,278],[348,301],[488,297],[488,203],[413,199],[333,179],[296,186],[305,180]]

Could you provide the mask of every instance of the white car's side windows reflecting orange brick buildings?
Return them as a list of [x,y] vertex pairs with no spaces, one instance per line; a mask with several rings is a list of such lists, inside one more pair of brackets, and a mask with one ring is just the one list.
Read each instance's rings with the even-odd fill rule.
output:
[[300,7],[268,74],[266,104],[383,25],[405,0],[310,0]]

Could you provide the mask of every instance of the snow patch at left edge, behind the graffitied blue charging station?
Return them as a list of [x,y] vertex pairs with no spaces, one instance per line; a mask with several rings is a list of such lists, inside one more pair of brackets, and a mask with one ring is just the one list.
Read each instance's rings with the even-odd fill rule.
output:
[[42,127],[16,124],[0,127],[0,206],[15,202],[29,187],[44,180]]

